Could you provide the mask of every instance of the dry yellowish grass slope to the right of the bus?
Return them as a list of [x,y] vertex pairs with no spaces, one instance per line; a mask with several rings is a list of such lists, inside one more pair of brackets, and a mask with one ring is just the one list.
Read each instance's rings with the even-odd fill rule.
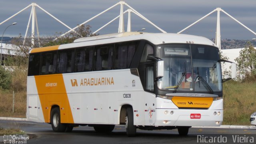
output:
[[256,83],[230,80],[223,84],[225,125],[250,125],[250,115],[256,112]]

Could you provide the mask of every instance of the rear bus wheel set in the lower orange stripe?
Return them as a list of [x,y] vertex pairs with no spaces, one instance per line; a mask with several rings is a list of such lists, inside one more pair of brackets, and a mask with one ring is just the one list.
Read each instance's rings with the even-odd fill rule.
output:
[[52,130],[54,132],[64,132],[66,130],[66,124],[60,123],[60,108],[53,108],[51,111],[51,123]]

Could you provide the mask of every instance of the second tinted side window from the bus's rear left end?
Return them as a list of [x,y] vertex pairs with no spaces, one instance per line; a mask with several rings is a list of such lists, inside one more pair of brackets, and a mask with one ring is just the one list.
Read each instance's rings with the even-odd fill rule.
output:
[[42,53],[41,74],[55,74],[57,52]]

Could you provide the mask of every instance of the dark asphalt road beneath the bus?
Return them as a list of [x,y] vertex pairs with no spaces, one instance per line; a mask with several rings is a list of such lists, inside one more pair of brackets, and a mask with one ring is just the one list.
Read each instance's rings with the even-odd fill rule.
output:
[[[242,128],[190,128],[188,136],[179,136],[177,130],[137,129],[136,137],[127,137],[124,126],[116,126],[110,133],[97,133],[88,126],[57,133],[47,123],[0,120],[0,127],[25,131],[29,136],[27,144],[198,144],[214,142],[214,138],[215,143],[256,143],[256,129]],[[0,143],[3,143],[2,136]]]

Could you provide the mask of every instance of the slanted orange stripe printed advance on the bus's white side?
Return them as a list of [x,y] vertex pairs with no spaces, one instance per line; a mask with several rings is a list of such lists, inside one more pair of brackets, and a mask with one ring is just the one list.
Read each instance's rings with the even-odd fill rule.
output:
[[63,75],[35,76],[35,80],[45,122],[50,122],[51,108],[57,105],[62,108],[60,109],[60,122],[74,123]]

